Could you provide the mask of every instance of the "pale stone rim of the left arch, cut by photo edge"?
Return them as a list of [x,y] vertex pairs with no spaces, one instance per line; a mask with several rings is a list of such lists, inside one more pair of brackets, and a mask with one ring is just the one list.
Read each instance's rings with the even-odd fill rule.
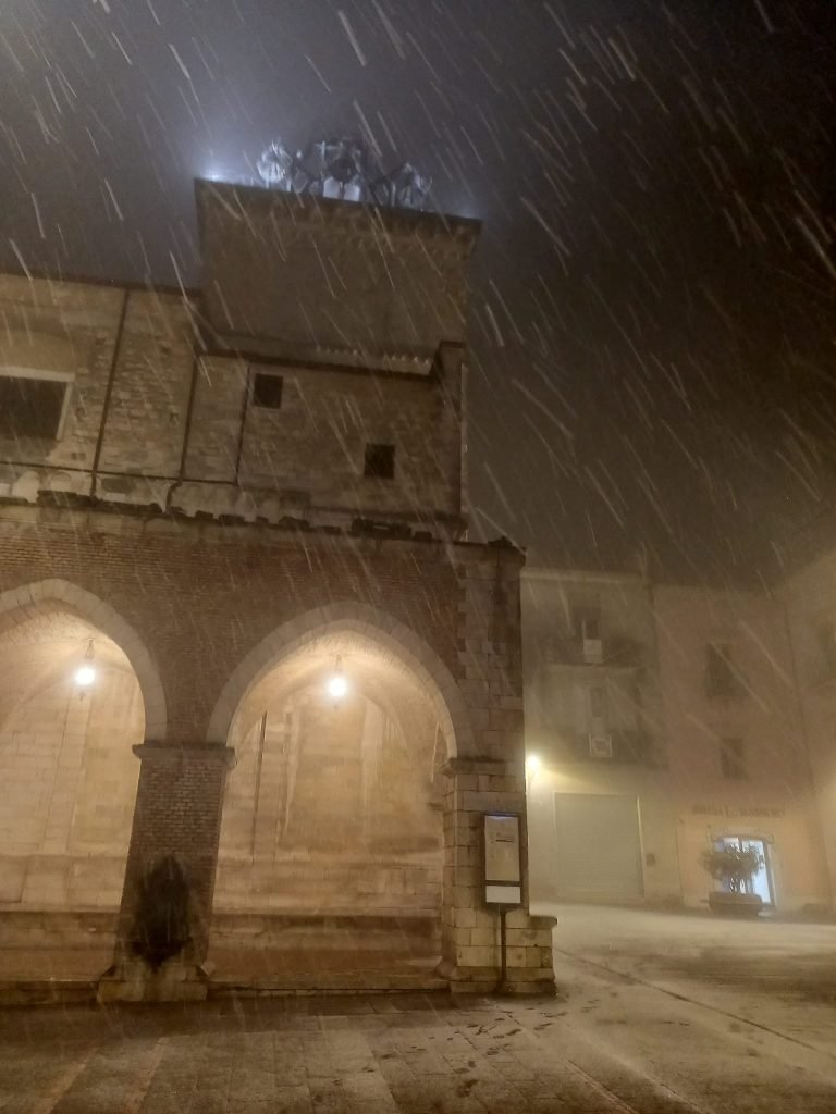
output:
[[91,592],[68,580],[39,580],[0,592],[0,617],[39,604],[59,603],[111,638],[130,662],[145,705],[145,737],[162,742],[167,732],[165,691],[157,667],[136,631]]

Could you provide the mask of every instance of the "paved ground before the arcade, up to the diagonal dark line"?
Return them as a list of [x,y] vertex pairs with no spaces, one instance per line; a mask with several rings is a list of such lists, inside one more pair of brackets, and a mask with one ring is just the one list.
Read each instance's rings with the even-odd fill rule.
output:
[[218,999],[0,1013],[2,1114],[833,1114],[836,1058],[622,975],[543,1001]]

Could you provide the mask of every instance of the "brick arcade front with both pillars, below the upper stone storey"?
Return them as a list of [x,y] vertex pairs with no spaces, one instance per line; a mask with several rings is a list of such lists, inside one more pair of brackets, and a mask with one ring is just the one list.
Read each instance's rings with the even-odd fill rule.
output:
[[[440,710],[449,775],[443,969],[460,988],[495,985],[496,919],[482,902],[478,841],[485,811],[519,812],[524,824],[521,563],[503,546],[0,505],[0,602],[20,608],[51,596],[82,614],[136,663],[154,707],[153,734],[136,751],[142,772],[106,996],[205,991],[193,974],[206,954],[230,754],[217,724],[231,723],[280,656],[276,632],[301,645],[340,629],[407,663]],[[192,944],[177,977],[149,989],[127,949],[137,880],[163,853],[189,878]],[[551,986],[545,922],[521,910],[508,927],[523,934],[509,937],[509,985]]]

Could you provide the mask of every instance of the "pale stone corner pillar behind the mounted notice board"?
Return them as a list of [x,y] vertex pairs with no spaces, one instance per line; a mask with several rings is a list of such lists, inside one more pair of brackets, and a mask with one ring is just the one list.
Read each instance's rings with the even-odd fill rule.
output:
[[[525,772],[521,762],[453,759],[444,814],[441,964],[457,993],[554,994],[553,917],[528,911]],[[500,988],[499,912],[485,905],[484,815],[515,812],[522,840],[523,905],[506,915],[506,978]]]

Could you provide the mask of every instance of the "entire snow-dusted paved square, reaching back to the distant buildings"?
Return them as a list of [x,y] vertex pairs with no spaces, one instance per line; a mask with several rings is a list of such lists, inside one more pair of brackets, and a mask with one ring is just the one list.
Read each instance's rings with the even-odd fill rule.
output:
[[836,928],[553,911],[556,999],[0,1012],[0,1111],[836,1112]]

